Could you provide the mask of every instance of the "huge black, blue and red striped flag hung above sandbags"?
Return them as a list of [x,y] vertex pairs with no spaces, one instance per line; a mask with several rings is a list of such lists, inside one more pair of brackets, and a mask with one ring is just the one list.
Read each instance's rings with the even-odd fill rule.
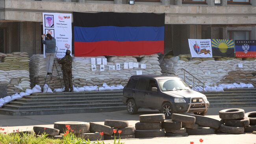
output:
[[75,56],[163,53],[165,14],[74,12],[73,18]]

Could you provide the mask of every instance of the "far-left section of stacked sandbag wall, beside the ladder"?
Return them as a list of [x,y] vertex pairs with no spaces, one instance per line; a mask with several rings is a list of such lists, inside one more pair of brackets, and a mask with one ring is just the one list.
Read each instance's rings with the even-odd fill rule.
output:
[[14,94],[30,88],[28,53],[13,52],[2,54],[0,62],[0,84],[7,85],[7,93]]

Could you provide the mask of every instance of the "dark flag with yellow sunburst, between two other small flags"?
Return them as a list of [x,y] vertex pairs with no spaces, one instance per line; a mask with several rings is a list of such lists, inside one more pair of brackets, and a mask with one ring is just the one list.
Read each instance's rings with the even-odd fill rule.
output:
[[235,57],[235,45],[233,40],[211,39],[213,56]]

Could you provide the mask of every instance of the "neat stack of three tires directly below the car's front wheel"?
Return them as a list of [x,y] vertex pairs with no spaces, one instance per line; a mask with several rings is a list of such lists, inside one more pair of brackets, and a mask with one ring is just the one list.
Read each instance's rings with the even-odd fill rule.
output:
[[165,130],[161,127],[161,122],[165,121],[164,114],[140,115],[139,121],[135,124],[135,138],[165,136]]

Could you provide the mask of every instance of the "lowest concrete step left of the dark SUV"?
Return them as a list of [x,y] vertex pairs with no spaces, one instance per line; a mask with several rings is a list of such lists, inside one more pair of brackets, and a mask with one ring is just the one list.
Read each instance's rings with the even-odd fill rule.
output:
[[0,114],[4,115],[56,115],[67,113],[98,113],[98,112],[114,112],[119,110],[126,110],[126,106],[103,106],[103,107],[89,107],[89,108],[61,108],[61,109],[42,109],[42,110],[10,110],[2,108]]

